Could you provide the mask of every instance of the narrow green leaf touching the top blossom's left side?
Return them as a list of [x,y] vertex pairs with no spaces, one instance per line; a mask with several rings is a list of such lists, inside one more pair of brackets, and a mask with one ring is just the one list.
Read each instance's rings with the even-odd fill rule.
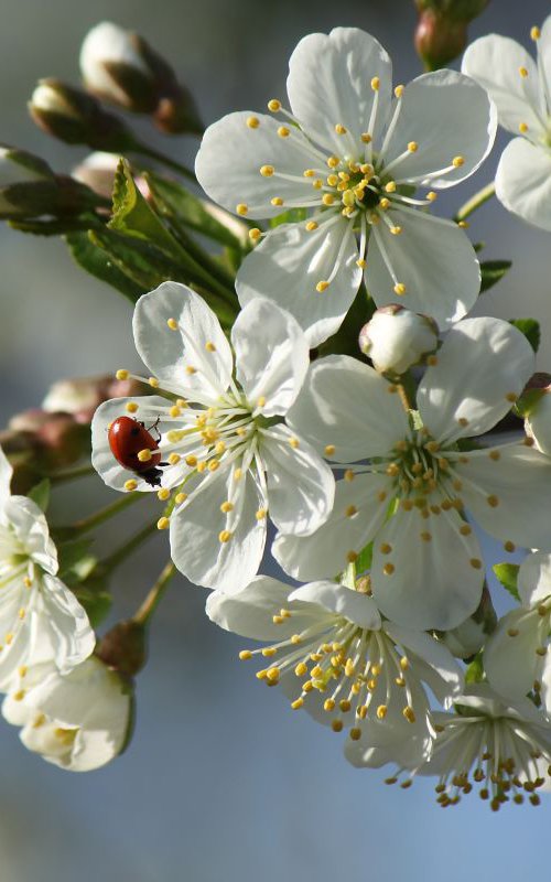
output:
[[147,172],[144,178],[153,195],[159,213],[184,227],[202,233],[214,241],[242,254],[249,250],[248,239],[240,239],[227,226],[217,220],[205,208],[202,200],[188,193],[175,181],[168,181],[155,172]]

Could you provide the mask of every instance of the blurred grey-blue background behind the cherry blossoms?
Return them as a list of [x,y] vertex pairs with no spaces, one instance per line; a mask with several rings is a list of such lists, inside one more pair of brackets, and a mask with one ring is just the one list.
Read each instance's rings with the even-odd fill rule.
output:
[[[364,28],[390,52],[396,82],[420,73],[412,46],[411,0],[2,0],[2,141],[68,170],[85,151],[39,132],[25,101],[41,76],[78,82],[78,49],[102,19],[141,32],[173,63],[207,122],[284,96],[287,60],[298,40],[337,24]],[[493,0],[471,29],[529,43],[545,0]],[[192,162],[196,143],[143,135]],[[491,180],[500,136],[483,169],[439,200],[451,214]],[[541,368],[551,366],[549,234],[529,228],[498,203],[471,232],[487,259],[514,267],[479,305],[482,314],[534,316],[548,331]],[[0,424],[37,405],[65,376],[139,367],[131,306],[85,277],[62,244],[0,229]],[[98,480],[60,491],[53,518],[66,520],[112,499]],[[152,515],[152,513],[150,513]],[[121,518],[98,550],[136,526]],[[117,615],[130,614],[165,562],[165,536],[120,570]],[[496,557],[499,552],[496,549]],[[475,796],[442,811],[430,782],[408,792],[385,787],[383,773],[358,772],[339,738],[291,713],[237,660],[240,643],[205,621],[205,592],[174,580],[152,626],[150,660],[138,682],[138,724],[127,753],[105,770],[72,775],[44,763],[2,722],[0,879],[2,882],[276,882],[339,878],[410,882],[445,875],[520,882],[549,875],[549,800],[498,816]],[[115,621],[115,616],[112,617]]]

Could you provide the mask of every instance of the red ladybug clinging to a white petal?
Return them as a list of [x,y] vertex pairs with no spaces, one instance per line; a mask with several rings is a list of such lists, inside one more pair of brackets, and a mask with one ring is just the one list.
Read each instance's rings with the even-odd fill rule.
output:
[[[156,429],[159,420],[145,429],[145,423],[139,422],[133,417],[117,417],[109,426],[108,432],[109,447],[117,462],[125,469],[139,474],[152,487],[161,486],[162,472],[159,466],[168,465],[168,463],[161,462],[160,452],[153,453],[159,450],[161,440]],[[153,438],[151,430],[158,432],[158,439]],[[152,456],[147,462],[138,459],[141,450],[152,451]]]

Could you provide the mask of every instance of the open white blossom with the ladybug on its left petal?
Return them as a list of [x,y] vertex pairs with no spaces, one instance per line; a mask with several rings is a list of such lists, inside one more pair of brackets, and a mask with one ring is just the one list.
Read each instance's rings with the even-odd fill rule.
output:
[[133,329],[155,375],[152,385],[172,400],[101,405],[93,421],[93,463],[116,490],[153,490],[115,460],[107,429],[125,406],[158,426],[166,462],[161,498],[177,488],[170,523],[174,562],[192,582],[238,590],[257,573],[268,515],[283,533],[303,536],[333,505],[331,470],[283,421],[307,370],[307,343],[291,315],[257,299],[231,331],[234,379],[234,356],[216,315],[176,282],[140,298]]

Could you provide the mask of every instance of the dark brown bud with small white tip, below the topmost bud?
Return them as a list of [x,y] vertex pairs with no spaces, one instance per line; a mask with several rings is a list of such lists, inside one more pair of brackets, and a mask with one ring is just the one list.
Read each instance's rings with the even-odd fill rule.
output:
[[29,103],[31,117],[47,135],[69,144],[125,153],[136,140],[125,123],[99,101],[58,79],[41,79]]

